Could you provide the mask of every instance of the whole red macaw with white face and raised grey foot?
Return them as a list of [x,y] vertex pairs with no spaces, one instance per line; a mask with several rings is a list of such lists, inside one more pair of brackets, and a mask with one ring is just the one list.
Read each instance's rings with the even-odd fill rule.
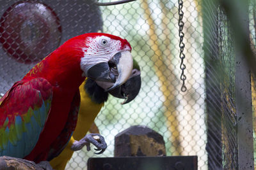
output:
[[[0,155],[36,163],[58,156],[76,127],[79,86],[84,79],[112,82],[108,90],[113,90],[131,73],[131,45],[126,39],[104,33],[69,39],[0,99]],[[71,148],[92,143],[97,150],[104,150],[102,138],[88,134]]]

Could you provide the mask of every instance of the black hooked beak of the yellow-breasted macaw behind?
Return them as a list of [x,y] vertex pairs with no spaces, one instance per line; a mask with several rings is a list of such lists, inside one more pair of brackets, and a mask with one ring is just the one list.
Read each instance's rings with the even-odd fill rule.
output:
[[138,69],[132,70],[130,78],[120,87],[109,91],[112,96],[125,99],[122,104],[132,101],[140,92],[141,76]]

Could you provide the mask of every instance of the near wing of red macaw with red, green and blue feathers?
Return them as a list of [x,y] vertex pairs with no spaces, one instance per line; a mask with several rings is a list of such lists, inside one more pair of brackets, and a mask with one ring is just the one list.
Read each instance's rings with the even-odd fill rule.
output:
[[23,158],[36,145],[51,108],[44,78],[18,81],[0,99],[0,155]]

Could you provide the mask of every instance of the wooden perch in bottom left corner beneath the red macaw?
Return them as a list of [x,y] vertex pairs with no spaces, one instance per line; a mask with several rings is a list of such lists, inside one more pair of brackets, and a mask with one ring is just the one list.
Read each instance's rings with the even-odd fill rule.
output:
[[44,170],[42,167],[38,166],[35,162],[29,161],[26,159],[19,159],[19,158],[15,158],[15,157],[7,157],[7,156],[0,157],[0,169]]

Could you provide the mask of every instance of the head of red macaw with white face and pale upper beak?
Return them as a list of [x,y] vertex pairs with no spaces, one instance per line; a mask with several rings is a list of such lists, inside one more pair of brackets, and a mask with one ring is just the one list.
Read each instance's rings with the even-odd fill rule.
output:
[[111,82],[108,90],[120,87],[132,74],[131,45],[126,39],[104,33],[89,33],[84,39],[81,69],[95,81]]

